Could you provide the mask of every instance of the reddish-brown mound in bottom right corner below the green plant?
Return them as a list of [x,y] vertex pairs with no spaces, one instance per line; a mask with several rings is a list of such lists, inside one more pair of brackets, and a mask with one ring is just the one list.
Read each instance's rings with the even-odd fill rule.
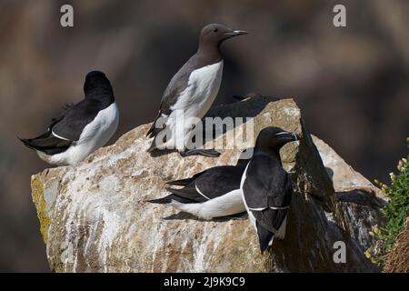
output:
[[396,237],[394,248],[388,254],[385,273],[408,273],[409,272],[409,216],[404,223],[404,229]]

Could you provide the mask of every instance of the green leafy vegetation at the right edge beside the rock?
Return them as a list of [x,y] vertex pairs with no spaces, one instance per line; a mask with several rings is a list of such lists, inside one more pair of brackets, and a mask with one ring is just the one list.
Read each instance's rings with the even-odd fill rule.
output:
[[[406,140],[409,148],[409,137]],[[395,175],[391,173],[390,185],[383,184],[375,180],[375,184],[380,186],[384,196],[387,198],[388,206],[383,209],[386,218],[384,227],[373,228],[371,235],[376,237],[378,245],[376,249],[368,249],[365,255],[374,263],[383,265],[387,254],[394,247],[396,236],[403,230],[404,221],[409,215],[409,166],[407,158],[399,161]]]

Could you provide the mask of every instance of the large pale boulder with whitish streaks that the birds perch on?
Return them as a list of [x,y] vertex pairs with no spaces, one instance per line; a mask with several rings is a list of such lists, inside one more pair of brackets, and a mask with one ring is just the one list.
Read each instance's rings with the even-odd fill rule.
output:
[[[219,158],[177,153],[149,156],[149,125],[123,135],[79,166],[47,169],[32,177],[33,200],[41,222],[46,256],[56,272],[373,272],[365,256],[369,231],[382,223],[382,196],[363,176],[316,137],[307,133],[292,99],[254,97],[216,106],[209,116],[251,116],[234,131],[254,125],[254,137],[269,125],[302,135],[299,146],[282,150],[293,173],[294,198],[284,241],[260,255],[248,220],[199,221],[170,206],[146,203],[166,195],[165,182],[211,166],[234,165],[242,149]],[[231,143],[233,138],[227,138]],[[294,144],[294,143],[293,143]],[[314,144],[316,146],[314,146]],[[317,149],[318,148],[318,149]],[[321,158],[321,156],[322,158]],[[323,164],[323,160],[324,164]],[[325,169],[325,166],[327,167]],[[331,170],[329,176],[327,170]],[[333,180],[334,185],[333,185]],[[335,191],[344,199],[338,199]],[[348,199],[356,196],[364,199]],[[350,193],[351,195],[349,195]],[[358,193],[358,194],[359,194]],[[359,196],[359,195],[358,195]],[[359,201],[359,203],[357,203]],[[346,262],[334,263],[334,242],[344,241]]]

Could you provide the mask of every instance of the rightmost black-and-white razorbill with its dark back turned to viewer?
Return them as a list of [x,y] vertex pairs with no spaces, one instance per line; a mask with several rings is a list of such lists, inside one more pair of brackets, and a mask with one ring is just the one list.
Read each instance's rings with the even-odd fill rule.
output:
[[278,127],[266,127],[257,136],[254,156],[244,170],[240,189],[249,219],[258,235],[262,254],[283,239],[293,187],[285,172],[280,148],[299,136]]

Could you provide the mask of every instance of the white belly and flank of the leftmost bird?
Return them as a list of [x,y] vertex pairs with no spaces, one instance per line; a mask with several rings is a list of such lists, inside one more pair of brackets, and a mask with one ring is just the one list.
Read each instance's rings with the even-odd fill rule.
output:
[[[109,141],[112,135],[115,134],[119,123],[119,111],[115,103],[109,105],[104,110],[101,110],[94,120],[84,127],[79,140],[70,146],[64,153],[49,156],[45,153],[37,151],[45,162],[58,166],[75,165],[83,161],[96,149]],[[55,135],[53,133],[53,135]],[[60,136],[55,135],[58,138]]]

